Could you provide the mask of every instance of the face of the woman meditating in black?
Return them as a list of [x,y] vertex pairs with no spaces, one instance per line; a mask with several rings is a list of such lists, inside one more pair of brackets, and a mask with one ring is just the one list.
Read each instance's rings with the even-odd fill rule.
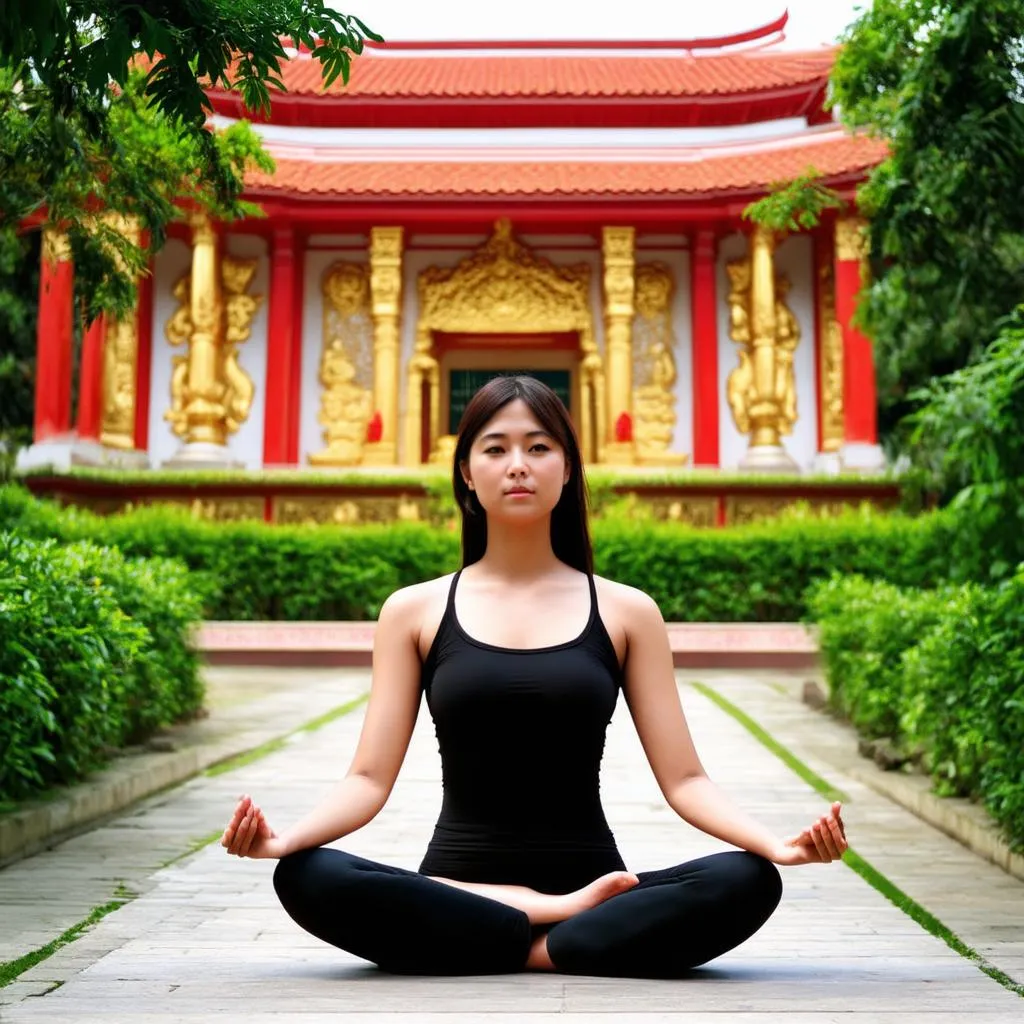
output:
[[461,469],[489,520],[550,514],[568,482],[570,467],[561,444],[516,398],[473,438]]

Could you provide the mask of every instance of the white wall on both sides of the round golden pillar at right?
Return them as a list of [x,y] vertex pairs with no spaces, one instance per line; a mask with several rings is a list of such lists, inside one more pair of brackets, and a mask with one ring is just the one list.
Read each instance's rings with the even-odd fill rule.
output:
[[[736,429],[726,394],[729,374],[738,365],[739,346],[729,337],[729,275],[725,264],[748,251],[746,238],[736,231],[719,242],[717,261],[719,462],[736,469],[750,446],[750,437]],[[817,453],[818,388],[814,372],[814,250],[810,236],[786,239],[775,253],[775,267],[791,281],[787,305],[800,324],[800,343],[794,353],[797,385],[797,422],[782,444],[802,471],[812,468]]]

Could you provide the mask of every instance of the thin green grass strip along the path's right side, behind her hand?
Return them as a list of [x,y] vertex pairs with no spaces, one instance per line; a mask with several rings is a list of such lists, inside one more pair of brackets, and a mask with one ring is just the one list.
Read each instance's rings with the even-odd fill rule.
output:
[[[745,728],[757,740],[768,748],[787,768],[799,775],[812,788],[819,793],[828,801],[839,800],[843,803],[849,802],[842,791],[826,782],[817,772],[813,771],[792,751],[786,750],[777,739],[770,736],[758,725],[749,715],[740,711],[731,700],[726,699],[721,693],[713,690],[703,683],[693,683],[693,688],[713,703],[717,705],[726,714],[731,715],[743,728]],[[977,949],[969,946],[955,932],[947,928],[930,910],[926,910],[913,897],[908,896],[899,886],[889,881],[877,867],[866,861],[860,854],[852,849],[848,849],[843,854],[843,863],[856,871],[872,889],[878,890],[890,903],[899,907],[908,918],[916,922],[926,932],[941,939],[953,952],[958,953],[965,959],[972,961],[977,968],[987,974],[993,981],[997,981],[1004,988],[1011,992],[1024,996],[1024,985],[1018,984],[1008,974],[1005,974],[997,967],[989,964]]]

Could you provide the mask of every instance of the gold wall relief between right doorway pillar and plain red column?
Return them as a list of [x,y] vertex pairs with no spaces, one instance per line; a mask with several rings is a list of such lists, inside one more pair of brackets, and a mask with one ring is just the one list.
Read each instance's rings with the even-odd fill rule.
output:
[[679,465],[670,452],[676,431],[676,347],[672,330],[672,270],[664,263],[636,269],[633,322],[633,439],[636,459],[647,465]]

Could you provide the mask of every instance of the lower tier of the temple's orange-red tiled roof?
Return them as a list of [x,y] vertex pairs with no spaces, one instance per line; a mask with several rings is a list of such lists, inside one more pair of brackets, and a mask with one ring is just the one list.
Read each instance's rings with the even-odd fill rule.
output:
[[854,174],[878,164],[885,143],[838,132],[741,154],[700,160],[527,162],[466,160],[337,162],[278,159],[272,175],[247,175],[250,195],[305,198],[445,198],[559,196],[691,196],[754,191],[788,180],[813,166],[826,178]]

